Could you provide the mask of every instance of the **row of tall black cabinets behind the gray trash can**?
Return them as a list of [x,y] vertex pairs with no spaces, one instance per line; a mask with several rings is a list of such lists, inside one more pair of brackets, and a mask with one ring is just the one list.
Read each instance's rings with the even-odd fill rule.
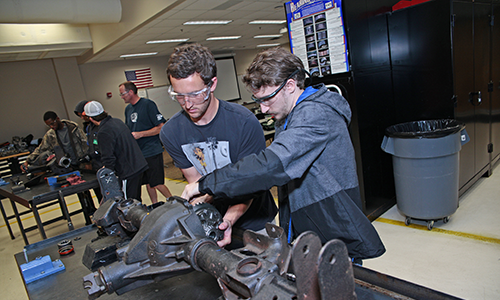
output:
[[[395,200],[384,130],[455,118],[471,141],[460,152],[460,192],[491,173],[500,154],[499,0],[343,1],[367,214]],[[322,79],[328,82],[328,78]]]

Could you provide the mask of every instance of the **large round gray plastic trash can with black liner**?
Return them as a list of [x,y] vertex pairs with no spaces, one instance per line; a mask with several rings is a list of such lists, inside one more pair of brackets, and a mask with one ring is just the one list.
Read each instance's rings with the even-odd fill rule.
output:
[[398,210],[411,219],[448,222],[458,208],[459,151],[469,141],[456,120],[426,120],[390,126],[382,150],[392,154]]

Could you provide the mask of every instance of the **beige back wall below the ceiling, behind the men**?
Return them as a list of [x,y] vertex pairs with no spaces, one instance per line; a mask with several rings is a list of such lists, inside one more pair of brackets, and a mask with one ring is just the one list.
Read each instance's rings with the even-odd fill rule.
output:
[[[258,50],[236,51],[238,77]],[[125,104],[119,96],[118,84],[125,81],[125,70],[150,67],[155,86],[168,83],[165,74],[168,57],[130,59],[123,61],[87,63],[78,65],[74,58],[46,59],[0,63],[0,143],[13,136],[33,134],[41,138],[47,126],[43,114],[55,111],[60,118],[77,121],[73,113],[76,104],[84,99],[100,101],[112,116],[123,120]],[[249,102],[250,94],[240,84],[242,102]],[[106,93],[111,92],[111,98]]]

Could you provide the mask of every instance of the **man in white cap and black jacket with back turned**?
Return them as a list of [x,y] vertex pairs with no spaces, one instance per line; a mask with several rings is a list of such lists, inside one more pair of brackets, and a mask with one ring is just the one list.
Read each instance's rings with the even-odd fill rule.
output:
[[108,115],[97,101],[88,102],[84,112],[93,124],[99,126],[97,144],[102,165],[115,171],[126,199],[142,201],[142,174],[148,169],[148,164],[130,129],[120,119]]

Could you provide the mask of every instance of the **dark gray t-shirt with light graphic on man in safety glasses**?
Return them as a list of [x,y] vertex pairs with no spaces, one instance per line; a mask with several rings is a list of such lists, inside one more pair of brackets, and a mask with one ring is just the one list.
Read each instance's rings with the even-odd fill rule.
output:
[[[181,110],[163,125],[160,139],[175,166],[195,167],[201,175],[266,148],[264,132],[254,114],[239,104],[221,100],[209,124],[198,126]],[[253,199],[247,212],[234,224],[236,227],[258,231],[276,215],[269,191]],[[224,214],[228,205],[224,202],[216,207]]]

